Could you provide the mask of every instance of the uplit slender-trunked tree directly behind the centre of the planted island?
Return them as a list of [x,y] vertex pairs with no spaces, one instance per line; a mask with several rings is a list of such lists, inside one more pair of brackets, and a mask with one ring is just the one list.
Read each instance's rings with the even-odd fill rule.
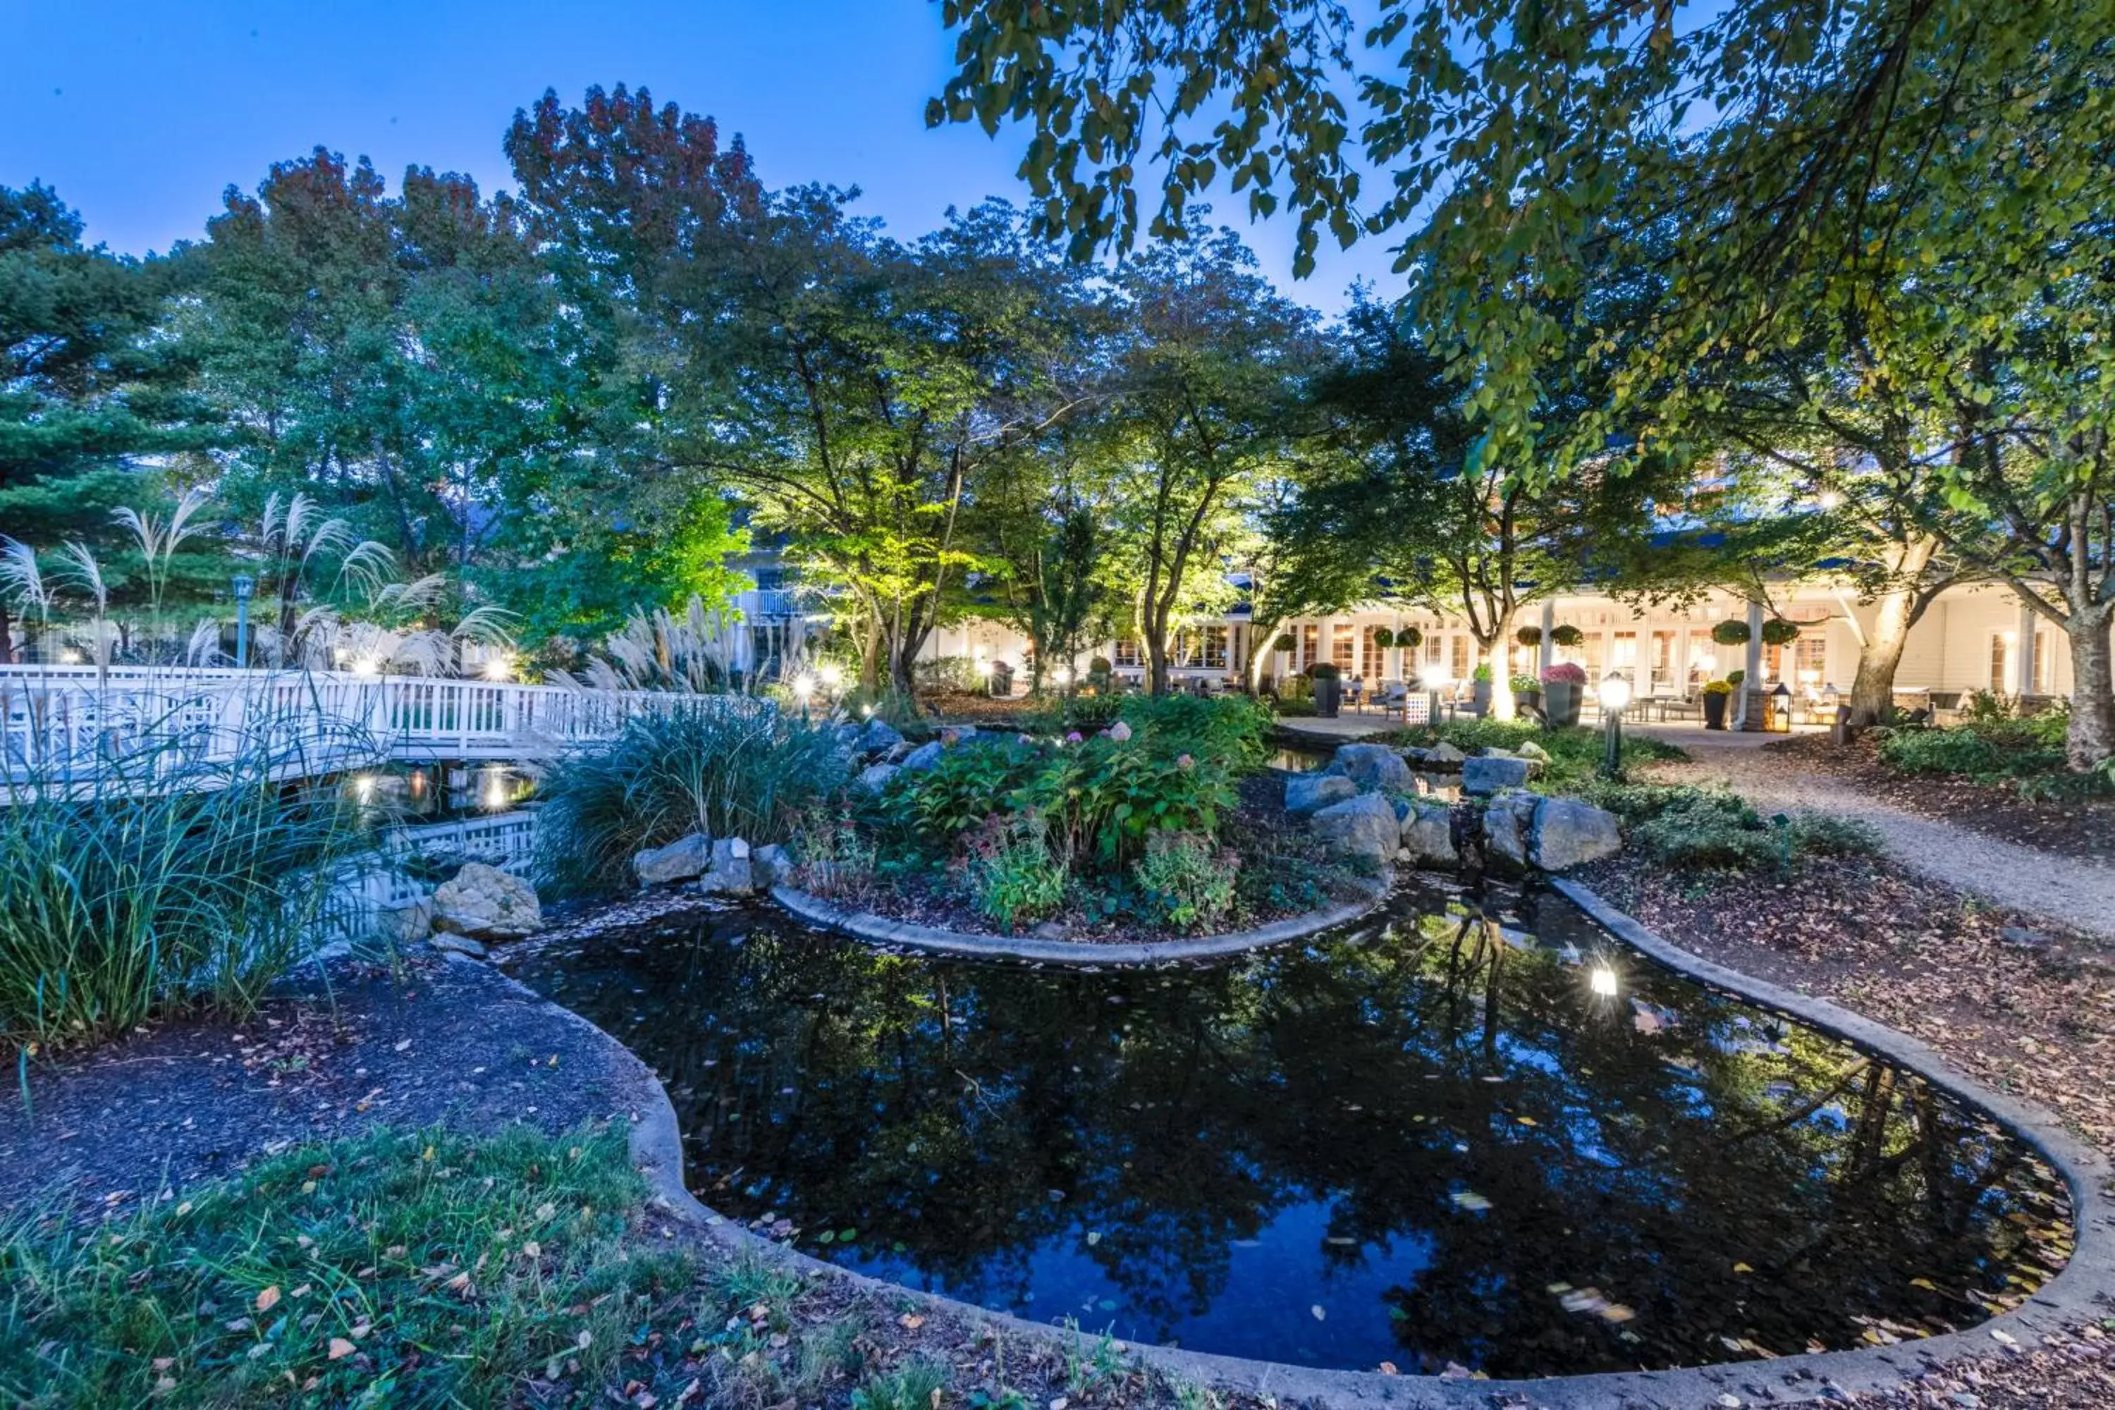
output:
[[1117,307],[1125,332],[1104,454],[1148,683],[1161,695],[1174,628],[1201,605],[1201,588],[1225,594],[1246,499],[1288,457],[1322,340],[1231,230],[1193,228],[1134,256],[1117,275]]

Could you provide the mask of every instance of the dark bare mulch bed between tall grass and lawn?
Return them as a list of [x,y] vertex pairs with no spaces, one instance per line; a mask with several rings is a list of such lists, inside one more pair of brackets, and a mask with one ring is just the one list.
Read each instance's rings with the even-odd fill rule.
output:
[[123,1213],[294,1142],[368,1127],[628,1120],[641,1068],[482,964],[334,964],[243,1023],[171,1019],[0,1093],[0,1211]]

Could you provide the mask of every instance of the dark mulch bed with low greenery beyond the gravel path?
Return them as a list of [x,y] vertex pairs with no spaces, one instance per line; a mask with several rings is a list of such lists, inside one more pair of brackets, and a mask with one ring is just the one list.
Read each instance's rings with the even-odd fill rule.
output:
[[1954,774],[1901,774],[1880,761],[1878,740],[1859,736],[1838,748],[1825,734],[1794,736],[1762,746],[1815,774],[1855,782],[1861,793],[1920,818],[1967,827],[2058,856],[2115,862],[2115,799],[2039,803],[2009,784]]

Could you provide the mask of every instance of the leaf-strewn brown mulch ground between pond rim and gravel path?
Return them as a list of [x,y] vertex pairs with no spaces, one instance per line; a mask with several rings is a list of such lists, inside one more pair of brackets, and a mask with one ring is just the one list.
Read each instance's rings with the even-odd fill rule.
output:
[[[1978,1080],[2058,1112],[2115,1154],[2115,953],[1876,860],[1789,879],[1671,877],[1639,858],[1580,873],[1694,953],[1914,1034]],[[2115,1406],[2115,1319],[1927,1376],[1870,1406]]]

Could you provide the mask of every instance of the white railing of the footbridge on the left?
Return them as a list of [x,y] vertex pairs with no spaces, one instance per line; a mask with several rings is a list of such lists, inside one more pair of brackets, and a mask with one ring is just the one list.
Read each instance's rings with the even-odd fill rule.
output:
[[286,772],[387,759],[544,759],[607,740],[628,719],[757,708],[725,695],[594,691],[501,681],[294,670],[0,666],[0,772],[82,776],[231,763],[269,742]]

